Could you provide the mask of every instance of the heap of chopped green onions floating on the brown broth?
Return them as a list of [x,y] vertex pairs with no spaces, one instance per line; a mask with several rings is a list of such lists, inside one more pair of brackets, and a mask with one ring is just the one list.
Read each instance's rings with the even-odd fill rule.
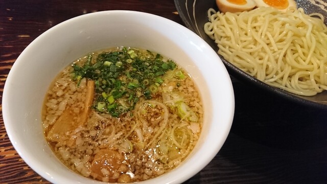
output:
[[78,86],[83,78],[94,80],[94,107],[112,117],[134,109],[140,98],[151,99],[158,86],[164,83],[161,76],[166,72],[171,77],[177,77],[173,72],[176,64],[151,51],[124,47],[98,55],[88,54],[83,61],[84,65],[72,65],[72,78]]

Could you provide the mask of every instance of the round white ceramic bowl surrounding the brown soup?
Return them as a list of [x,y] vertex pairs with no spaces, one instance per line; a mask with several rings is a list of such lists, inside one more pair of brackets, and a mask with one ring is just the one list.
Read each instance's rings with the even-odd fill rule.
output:
[[139,183],[181,183],[203,169],[229,133],[233,113],[232,84],[216,52],[185,27],[156,15],[103,11],[78,16],[36,38],[14,63],[3,93],[8,136],[25,162],[53,183],[102,183],[67,169],[43,136],[42,102],[52,80],[65,66],[92,51],[127,46],[149,49],[181,65],[195,80],[204,108],[198,144],[175,170]]

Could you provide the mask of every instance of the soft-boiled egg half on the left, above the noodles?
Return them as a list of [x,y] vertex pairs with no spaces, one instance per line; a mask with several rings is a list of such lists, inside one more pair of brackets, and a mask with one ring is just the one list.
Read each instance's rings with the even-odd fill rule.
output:
[[253,0],[216,0],[216,4],[222,13],[248,11],[256,6]]

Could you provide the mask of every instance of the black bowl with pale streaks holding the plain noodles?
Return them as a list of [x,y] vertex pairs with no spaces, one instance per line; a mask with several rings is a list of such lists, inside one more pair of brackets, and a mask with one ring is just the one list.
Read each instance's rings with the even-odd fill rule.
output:
[[[316,12],[321,13],[325,17],[324,23],[327,25],[327,7],[318,3],[319,1],[323,3],[324,0],[315,1],[315,3],[317,3],[319,6],[312,4],[309,0],[295,1],[297,7],[303,8],[307,14]],[[185,26],[199,35],[202,39],[204,39],[215,51],[218,51],[217,44],[214,42],[214,40],[209,38],[203,30],[204,24],[208,21],[207,10],[209,8],[218,10],[215,0],[174,0],[174,2],[179,16],[181,17]],[[323,91],[322,93],[311,97],[291,94],[285,90],[270,86],[248,75],[247,73],[240,70],[240,68],[225,60],[222,56],[220,56],[220,58],[222,59],[229,74],[231,75],[232,81],[237,79],[241,82],[248,83],[253,87],[262,89],[268,93],[275,94],[276,96],[282,97],[289,101],[299,103],[301,105],[327,110],[327,91]],[[235,79],[233,79],[233,77],[235,77]]]

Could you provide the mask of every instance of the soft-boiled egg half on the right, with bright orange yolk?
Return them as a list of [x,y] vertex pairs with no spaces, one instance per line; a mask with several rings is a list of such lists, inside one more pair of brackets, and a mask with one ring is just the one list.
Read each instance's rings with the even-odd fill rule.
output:
[[285,11],[289,7],[295,7],[294,0],[254,0],[257,7],[274,7],[278,10]]

